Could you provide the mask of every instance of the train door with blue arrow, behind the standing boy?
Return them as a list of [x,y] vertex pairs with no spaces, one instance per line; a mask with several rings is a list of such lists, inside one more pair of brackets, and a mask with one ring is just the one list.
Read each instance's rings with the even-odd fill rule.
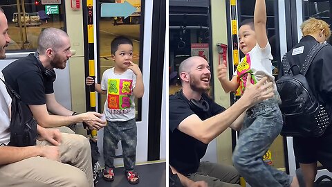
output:
[[[93,2],[94,7],[89,7],[89,2]],[[86,54],[89,54],[89,64],[86,63],[86,75],[95,68],[96,81],[100,83],[102,74],[107,69],[114,66],[111,60],[111,41],[123,35],[133,42],[133,63],[140,66],[142,79],[145,86],[145,94],[141,99],[135,99],[136,124],[137,124],[137,151],[136,162],[144,163],[146,161],[165,160],[166,159],[166,132],[165,132],[165,100],[162,100],[165,92],[165,1],[153,0],[131,0],[131,1],[87,1],[86,16],[88,17],[88,41],[91,48],[88,48]],[[91,12],[90,12],[91,11]],[[91,23],[91,15],[95,23]],[[93,24],[94,38],[89,35],[89,24]],[[154,30],[154,32],[152,32]],[[94,44],[91,41],[94,40]],[[89,46],[88,45],[88,46]],[[93,51],[93,52],[91,52]],[[95,64],[91,67],[91,60]],[[87,66],[88,65],[88,66]],[[120,87],[118,88],[120,90]],[[91,110],[91,100],[89,92],[94,92],[87,87],[86,100],[87,110]],[[122,93],[119,91],[119,93]],[[164,93],[165,95],[165,93]],[[91,96],[91,94],[90,94]],[[115,96],[116,97],[116,96]],[[118,102],[122,103],[121,96],[118,96]],[[113,109],[110,105],[104,105],[107,95],[96,97],[95,108],[99,112],[107,109]],[[162,104],[163,103],[163,104]],[[126,103],[119,104],[118,107],[125,107]],[[163,107],[162,107],[163,105]],[[93,109],[94,110],[94,109]],[[163,118],[161,118],[163,116]],[[100,163],[103,165],[102,148],[103,130],[98,131],[98,148],[100,150]],[[114,164],[120,166],[122,162],[122,147],[118,144]]]

